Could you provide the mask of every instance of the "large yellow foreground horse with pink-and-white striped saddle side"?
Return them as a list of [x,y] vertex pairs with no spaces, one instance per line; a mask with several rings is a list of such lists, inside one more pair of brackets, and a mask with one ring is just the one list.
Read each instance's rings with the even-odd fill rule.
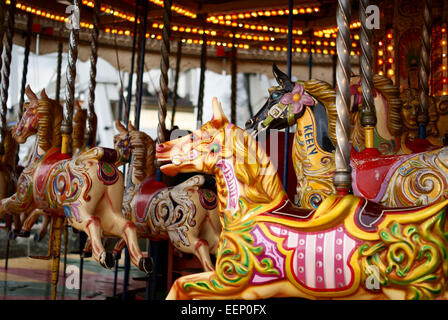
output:
[[215,175],[223,230],[215,271],[177,279],[167,299],[448,298],[448,200],[392,209],[332,195],[294,207],[263,148],[216,99],[211,121],[156,157],[167,175]]

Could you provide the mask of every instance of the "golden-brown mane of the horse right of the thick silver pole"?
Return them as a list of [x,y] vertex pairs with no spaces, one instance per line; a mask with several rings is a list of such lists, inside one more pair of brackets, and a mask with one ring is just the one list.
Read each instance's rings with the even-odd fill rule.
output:
[[400,90],[398,90],[391,79],[377,74],[373,76],[373,85],[386,98],[389,131],[394,137],[398,137],[403,128],[401,120],[403,102],[400,99]]

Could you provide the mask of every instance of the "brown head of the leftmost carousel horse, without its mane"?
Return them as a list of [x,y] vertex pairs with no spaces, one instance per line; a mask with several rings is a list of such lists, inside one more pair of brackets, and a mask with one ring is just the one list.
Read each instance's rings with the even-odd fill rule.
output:
[[25,143],[28,137],[37,133],[39,127],[39,100],[29,85],[25,89],[25,94],[30,101],[23,105],[22,118],[12,130],[13,138],[18,143]]

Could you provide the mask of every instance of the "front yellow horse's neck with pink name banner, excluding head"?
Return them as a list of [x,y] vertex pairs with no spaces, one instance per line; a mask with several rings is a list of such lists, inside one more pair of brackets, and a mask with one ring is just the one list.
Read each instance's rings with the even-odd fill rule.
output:
[[248,215],[268,212],[287,198],[269,157],[261,146],[256,144],[256,148],[245,155],[244,161],[226,158],[215,166],[219,211],[229,225],[237,225]]

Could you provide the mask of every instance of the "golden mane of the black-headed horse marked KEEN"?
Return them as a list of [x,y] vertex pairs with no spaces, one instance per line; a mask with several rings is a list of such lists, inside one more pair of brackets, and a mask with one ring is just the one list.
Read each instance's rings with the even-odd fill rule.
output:
[[318,99],[327,110],[328,117],[328,133],[333,145],[337,145],[336,139],[336,121],[338,113],[336,109],[336,91],[325,81],[309,80],[303,83],[305,90]]

